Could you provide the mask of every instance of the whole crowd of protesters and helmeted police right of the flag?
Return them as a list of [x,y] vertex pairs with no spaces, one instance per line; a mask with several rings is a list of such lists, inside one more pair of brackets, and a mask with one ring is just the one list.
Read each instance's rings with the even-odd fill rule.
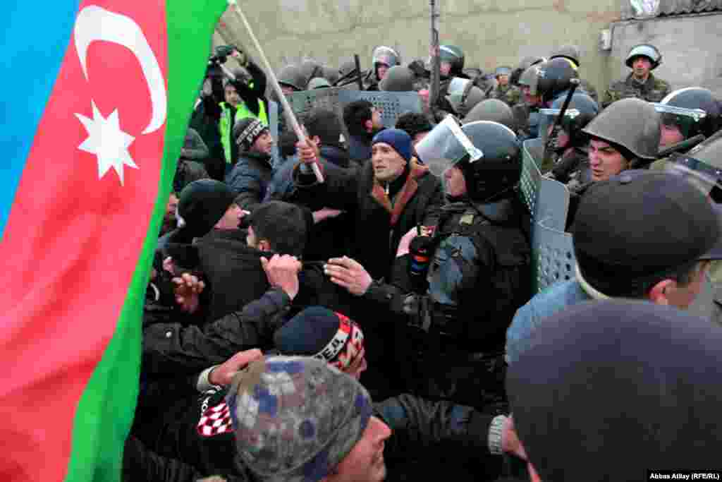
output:
[[[285,66],[284,95],[362,85],[423,109],[384,128],[367,100],[317,107],[306,139],[274,139],[267,74],[215,51],[147,290],[124,480],[718,468],[720,101],[655,77],[648,44],[601,96],[575,46],[492,76],[438,55],[438,95],[429,61],[386,46],[368,72]],[[575,256],[540,293],[520,186],[534,142],[570,192]]]

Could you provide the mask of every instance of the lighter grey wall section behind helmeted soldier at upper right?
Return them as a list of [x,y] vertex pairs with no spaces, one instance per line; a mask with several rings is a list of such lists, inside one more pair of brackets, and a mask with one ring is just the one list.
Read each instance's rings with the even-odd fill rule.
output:
[[627,53],[652,43],[662,54],[654,74],[673,89],[701,85],[722,97],[722,14],[691,14],[628,20],[612,25],[609,70],[612,78],[629,74]]

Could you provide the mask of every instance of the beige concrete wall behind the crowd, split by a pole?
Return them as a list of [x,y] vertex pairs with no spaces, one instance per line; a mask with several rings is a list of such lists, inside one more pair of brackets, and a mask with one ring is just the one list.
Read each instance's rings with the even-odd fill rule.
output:
[[[303,58],[338,66],[358,53],[368,68],[373,48],[399,49],[404,63],[428,56],[428,0],[254,0],[244,12],[274,69]],[[599,33],[620,19],[618,0],[438,0],[442,43],[464,49],[466,66],[490,71],[516,65],[527,55],[548,56],[574,43],[583,51],[580,74],[599,90],[609,83]],[[226,37],[248,46],[232,12],[223,17]],[[215,39],[219,41],[218,38]],[[252,49],[251,49],[252,51]]]

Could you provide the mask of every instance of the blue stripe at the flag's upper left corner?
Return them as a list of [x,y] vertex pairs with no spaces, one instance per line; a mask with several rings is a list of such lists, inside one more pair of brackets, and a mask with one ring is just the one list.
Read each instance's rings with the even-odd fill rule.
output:
[[79,0],[15,0],[0,24],[0,239],[25,161],[70,43]]

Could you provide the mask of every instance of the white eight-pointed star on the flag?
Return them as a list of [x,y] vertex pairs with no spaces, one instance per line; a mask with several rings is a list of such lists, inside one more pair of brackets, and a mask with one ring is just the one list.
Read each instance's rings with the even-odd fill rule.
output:
[[79,113],[75,114],[88,133],[88,138],[78,146],[78,149],[95,154],[99,179],[105,176],[110,168],[113,168],[121,178],[122,186],[123,165],[134,169],[138,168],[128,151],[128,147],[133,143],[135,137],[121,130],[117,109],[106,119],[95,106],[95,102],[91,100],[91,103],[93,119]]

